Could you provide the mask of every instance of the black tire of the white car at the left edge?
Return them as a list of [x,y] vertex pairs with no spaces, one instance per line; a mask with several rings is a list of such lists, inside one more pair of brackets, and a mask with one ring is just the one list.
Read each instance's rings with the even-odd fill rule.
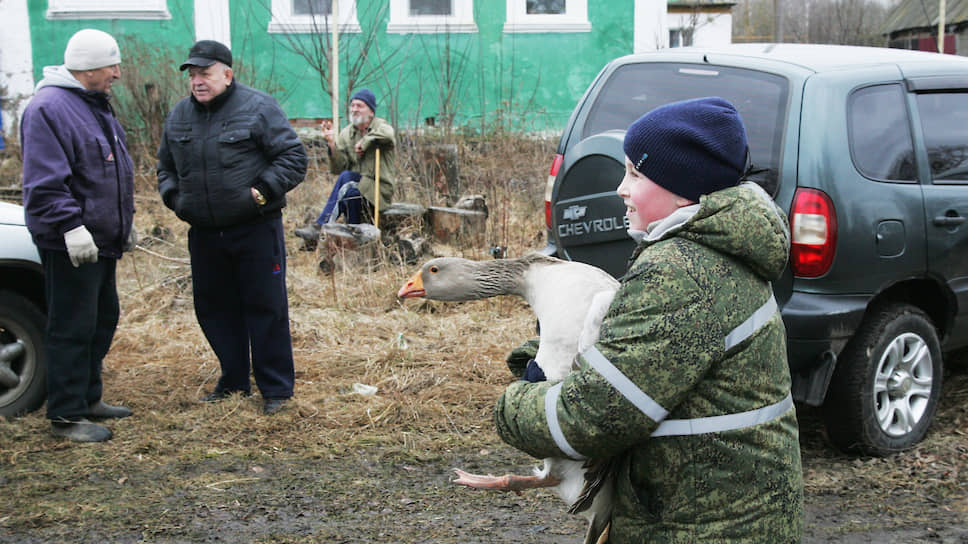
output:
[[[0,350],[16,347],[7,366],[18,383],[0,385],[0,415],[14,417],[40,408],[47,398],[46,318],[37,307],[12,291],[0,291]],[[0,351],[0,353],[3,353]],[[10,353],[9,351],[7,352]],[[8,373],[9,374],[9,373]]]

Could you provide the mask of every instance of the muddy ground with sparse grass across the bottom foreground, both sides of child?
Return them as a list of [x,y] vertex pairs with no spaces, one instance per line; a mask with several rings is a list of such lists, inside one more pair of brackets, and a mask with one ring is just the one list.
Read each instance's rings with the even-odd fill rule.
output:
[[[949,383],[965,387],[968,377],[955,375]],[[952,397],[964,401],[964,395]],[[240,404],[243,410],[258,407],[252,399]],[[963,406],[942,411],[924,448],[889,461],[830,450],[815,416],[801,407],[807,482],[803,542],[968,542],[965,474],[958,468],[968,466],[968,440],[963,427],[953,426],[964,422]],[[137,418],[114,425],[118,434],[138,432],[138,426]],[[940,433],[960,434],[960,460],[932,458]],[[548,493],[516,496],[449,482],[455,466],[493,473],[530,466],[529,458],[496,442],[492,434],[482,434],[486,443],[479,447],[439,453],[393,444],[345,450],[329,445],[303,455],[284,448],[213,448],[197,461],[164,464],[138,464],[137,456],[119,463],[110,445],[83,446],[99,450],[103,462],[45,486],[51,495],[48,507],[77,508],[78,517],[51,523],[38,514],[10,526],[17,506],[7,502],[0,506],[0,543],[581,542],[581,518],[565,514]],[[31,475],[13,467],[71,462],[71,447],[49,446],[24,453],[35,459],[5,459],[0,496],[9,498],[9,486],[21,479],[45,477],[43,468]],[[939,472],[938,465],[949,468]],[[898,481],[898,473],[910,474],[909,481]],[[929,475],[960,484],[952,489],[949,481],[943,487],[952,493],[933,496],[943,482],[926,484]],[[99,500],[91,502],[90,496]]]

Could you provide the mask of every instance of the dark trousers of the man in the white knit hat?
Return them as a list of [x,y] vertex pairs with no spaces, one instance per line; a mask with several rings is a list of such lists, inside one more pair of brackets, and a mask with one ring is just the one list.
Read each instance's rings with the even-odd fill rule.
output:
[[87,415],[101,400],[101,368],[118,326],[116,259],[74,268],[66,251],[43,249],[47,295],[47,417]]

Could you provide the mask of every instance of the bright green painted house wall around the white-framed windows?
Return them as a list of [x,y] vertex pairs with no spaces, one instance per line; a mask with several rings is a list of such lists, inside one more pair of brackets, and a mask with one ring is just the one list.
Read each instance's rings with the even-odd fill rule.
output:
[[[353,89],[369,87],[380,103],[378,115],[401,127],[421,126],[427,118],[440,125],[451,116],[470,129],[559,130],[602,66],[632,50],[634,0],[590,0],[587,33],[505,34],[505,3],[477,0],[476,33],[406,35],[386,33],[387,1],[358,1],[362,32],[342,36],[341,104]],[[271,92],[291,118],[329,117],[330,99],[320,83],[328,81],[328,70],[321,76],[297,53],[316,57],[320,47],[329,49],[329,38],[269,34],[270,0],[230,2],[238,79]],[[148,44],[173,63],[193,41],[192,0],[169,0],[168,21],[48,21],[46,3],[30,4],[38,79],[42,66],[63,62],[67,39],[84,27],[118,37],[122,55]],[[362,49],[365,58],[357,62]],[[359,80],[352,82],[354,71]]]

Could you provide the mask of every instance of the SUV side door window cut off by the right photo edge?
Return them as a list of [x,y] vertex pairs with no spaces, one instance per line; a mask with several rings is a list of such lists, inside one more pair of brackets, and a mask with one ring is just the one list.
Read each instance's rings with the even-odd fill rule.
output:
[[968,183],[968,93],[918,95],[931,179]]

